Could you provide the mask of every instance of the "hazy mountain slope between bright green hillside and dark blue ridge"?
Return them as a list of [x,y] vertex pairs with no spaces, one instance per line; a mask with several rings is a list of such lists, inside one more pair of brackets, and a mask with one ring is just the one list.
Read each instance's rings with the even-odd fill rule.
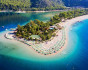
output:
[[56,7],[56,6],[62,6],[63,2],[62,0],[31,0],[32,6],[31,7]]

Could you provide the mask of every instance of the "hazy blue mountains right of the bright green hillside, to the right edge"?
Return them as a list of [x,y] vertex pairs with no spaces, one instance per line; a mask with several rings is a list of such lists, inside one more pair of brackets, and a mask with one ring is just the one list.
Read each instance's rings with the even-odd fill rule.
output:
[[46,6],[68,6],[68,7],[74,7],[74,6],[82,6],[82,7],[88,7],[88,0],[30,0],[31,2],[34,2],[34,7],[46,7]]

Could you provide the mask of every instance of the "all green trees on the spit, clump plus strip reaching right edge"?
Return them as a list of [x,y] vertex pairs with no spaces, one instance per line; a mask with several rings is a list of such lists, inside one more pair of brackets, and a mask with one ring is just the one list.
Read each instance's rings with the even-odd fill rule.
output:
[[[54,32],[56,30],[56,28],[50,29],[51,26],[57,26],[58,29],[62,29],[62,27],[56,23],[61,22],[63,19],[72,19],[85,14],[88,14],[88,9],[61,12],[59,15],[53,16],[53,18],[46,23],[36,19],[34,21],[30,21],[30,23],[25,26],[18,25],[16,35],[25,39],[29,39],[31,35],[38,35],[41,37],[42,41],[49,40],[52,36],[55,36]],[[33,40],[33,38],[30,38],[30,40]]]

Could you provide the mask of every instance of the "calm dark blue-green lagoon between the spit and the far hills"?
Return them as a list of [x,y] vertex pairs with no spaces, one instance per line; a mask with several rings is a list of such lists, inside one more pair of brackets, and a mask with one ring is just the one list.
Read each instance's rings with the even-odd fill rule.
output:
[[[44,12],[44,13],[14,13],[14,12],[0,12],[0,32],[6,29],[16,28],[18,24],[25,25],[31,20],[39,19],[41,21],[48,21],[50,17],[59,12]],[[2,26],[5,26],[2,28]]]

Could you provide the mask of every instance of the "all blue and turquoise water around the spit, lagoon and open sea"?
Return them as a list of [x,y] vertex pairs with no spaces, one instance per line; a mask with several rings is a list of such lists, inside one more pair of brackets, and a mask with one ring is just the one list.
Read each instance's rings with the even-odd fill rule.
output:
[[[6,29],[16,28],[17,24],[24,25],[34,19],[48,21],[58,13],[0,13],[0,70],[88,70],[88,19],[72,25],[67,47],[48,58],[39,54],[35,56],[31,50],[26,54],[23,50],[18,50],[20,45],[1,38]],[[18,49],[5,50],[5,47]]]

